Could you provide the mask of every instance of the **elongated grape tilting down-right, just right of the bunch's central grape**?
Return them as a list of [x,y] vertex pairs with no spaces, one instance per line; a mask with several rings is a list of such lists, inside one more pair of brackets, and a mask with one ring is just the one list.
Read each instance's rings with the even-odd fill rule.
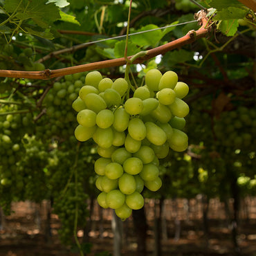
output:
[[147,130],[147,139],[153,143],[154,145],[163,145],[167,140],[167,136],[165,131],[158,127],[158,125],[154,124],[154,122],[146,122],[145,127]]

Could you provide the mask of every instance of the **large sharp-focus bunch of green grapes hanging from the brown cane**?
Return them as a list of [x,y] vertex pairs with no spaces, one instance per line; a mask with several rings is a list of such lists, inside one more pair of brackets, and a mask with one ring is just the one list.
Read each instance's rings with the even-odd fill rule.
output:
[[161,188],[158,159],[170,149],[183,152],[188,147],[188,136],[181,129],[189,113],[182,98],[189,89],[178,82],[176,73],[152,69],[133,97],[129,89],[124,78],[112,81],[93,71],[73,102],[79,124],[75,138],[93,138],[98,145],[100,158],[94,165],[95,185],[101,191],[98,203],[115,209],[120,219],[143,207],[144,187]]

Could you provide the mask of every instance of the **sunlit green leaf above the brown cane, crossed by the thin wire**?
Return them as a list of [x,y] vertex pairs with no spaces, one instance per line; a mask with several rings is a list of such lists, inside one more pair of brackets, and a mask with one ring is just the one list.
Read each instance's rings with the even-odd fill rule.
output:
[[[136,32],[150,30],[154,28],[158,28],[158,26],[154,24],[149,24],[147,26],[144,26],[143,28],[140,28],[140,30]],[[138,46],[155,46],[162,37],[163,37],[163,32],[161,30],[154,30],[154,31],[150,31],[147,33],[139,34],[139,35],[133,35],[131,39],[132,39],[132,42],[134,42],[135,44],[138,44]]]

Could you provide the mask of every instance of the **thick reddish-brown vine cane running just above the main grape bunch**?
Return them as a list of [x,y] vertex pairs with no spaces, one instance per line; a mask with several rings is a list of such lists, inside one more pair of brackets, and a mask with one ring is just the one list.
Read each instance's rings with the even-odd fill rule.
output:
[[[196,39],[206,37],[210,31],[210,26],[208,25],[208,18],[206,17],[206,12],[201,10],[197,12],[196,18],[201,24],[199,30],[192,30],[188,32],[185,36],[176,39],[172,42],[164,44],[163,46],[158,46],[156,48],[150,49],[143,57],[139,57],[134,61],[134,63],[142,63],[145,60],[152,59],[156,55],[165,54],[168,51],[172,51],[176,48],[179,48],[185,44],[191,44]],[[128,59],[131,59],[132,56],[129,56]],[[44,71],[12,71],[12,70],[0,70],[0,77],[15,77],[15,78],[29,78],[29,79],[39,79],[39,80],[48,80],[54,77],[60,77],[63,75],[71,75],[74,73],[80,73],[84,71],[93,71],[100,68],[109,68],[113,66],[122,66],[126,64],[124,57],[113,59],[113,60],[104,60],[101,62],[93,62],[89,64],[82,64],[78,66],[71,66],[68,68],[60,68],[55,70],[46,69]]]

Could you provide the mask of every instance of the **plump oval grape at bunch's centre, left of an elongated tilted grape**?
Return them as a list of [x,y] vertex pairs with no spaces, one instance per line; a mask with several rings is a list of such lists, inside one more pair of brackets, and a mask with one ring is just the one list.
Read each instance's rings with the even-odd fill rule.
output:
[[143,120],[140,118],[131,119],[128,125],[128,132],[134,140],[143,140],[147,132]]

